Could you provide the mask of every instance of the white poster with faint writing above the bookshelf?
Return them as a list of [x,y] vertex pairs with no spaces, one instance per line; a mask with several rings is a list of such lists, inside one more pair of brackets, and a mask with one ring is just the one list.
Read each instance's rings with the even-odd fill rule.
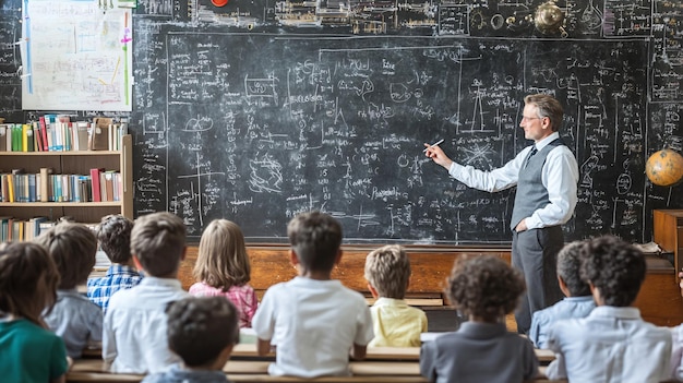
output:
[[24,0],[22,108],[132,109],[132,19],[111,0]]

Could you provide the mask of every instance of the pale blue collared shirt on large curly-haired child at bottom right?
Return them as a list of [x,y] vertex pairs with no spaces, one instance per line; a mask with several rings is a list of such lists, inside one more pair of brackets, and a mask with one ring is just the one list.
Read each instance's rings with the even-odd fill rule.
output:
[[550,380],[658,383],[668,380],[671,332],[643,321],[636,308],[599,306],[582,319],[558,321],[548,332],[555,352]]

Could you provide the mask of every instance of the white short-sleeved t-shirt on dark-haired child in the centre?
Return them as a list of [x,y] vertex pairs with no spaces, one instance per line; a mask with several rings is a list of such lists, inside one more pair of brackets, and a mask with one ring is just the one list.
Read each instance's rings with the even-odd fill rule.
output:
[[351,347],[366,346],[374,336],[361,294],[339,280],[305,277],[271,286],[252,327],[277,347],[272,375],[348,375]]

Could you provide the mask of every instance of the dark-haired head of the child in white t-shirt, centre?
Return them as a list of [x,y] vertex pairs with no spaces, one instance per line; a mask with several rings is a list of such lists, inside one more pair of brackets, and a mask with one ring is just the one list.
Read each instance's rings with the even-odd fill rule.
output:
[[342,225],[335,218],[320,212],[299,214],[289,222],[287,236],[305,270],[332,271],[342,246]]

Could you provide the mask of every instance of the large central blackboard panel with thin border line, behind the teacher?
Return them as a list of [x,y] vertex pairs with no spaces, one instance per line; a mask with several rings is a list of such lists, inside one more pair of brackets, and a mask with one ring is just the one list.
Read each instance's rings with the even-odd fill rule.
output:
[[[139,204],[163,196],[159,207],[184,217],[193,235],[228,217],[254,240],[283,237],[293,215],[321,210],[351,241],[510,241],[514,193],[450,180],[422,143],[444,139],[460,163],[498,167],[529,144],[518,121],[524,95],[536,92],[564,100],[563,135],[584,170],[567,230],[639,215],[644,175],[631,169],[644,157],[631,142],[643,132],[620,129],[645,122],[642,39],[160,36],[156,61],[167,67],[154,85],[165,108],[143,125],[164,129],[156,142],[165,147],[151,151],[164,172],[148,173],[164,176],[167,189],[153,201],[140,193]],[[613,167],[625,160],[628,169]],[[631,179],[624,193],[622,175]],[[588,207],[596,196],[609,205]]]

